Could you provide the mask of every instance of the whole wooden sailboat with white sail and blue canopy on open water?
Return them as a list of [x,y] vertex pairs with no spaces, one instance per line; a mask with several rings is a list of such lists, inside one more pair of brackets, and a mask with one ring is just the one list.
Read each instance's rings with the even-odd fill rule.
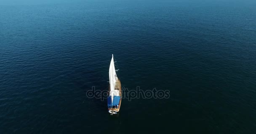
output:
[[111,113],[111,115],[116,114],[120,110],[122,100],[121,82],[117,77],[116,71],[114,56],[112,54],[109,66],[109,96],[107,98],[108,112]]

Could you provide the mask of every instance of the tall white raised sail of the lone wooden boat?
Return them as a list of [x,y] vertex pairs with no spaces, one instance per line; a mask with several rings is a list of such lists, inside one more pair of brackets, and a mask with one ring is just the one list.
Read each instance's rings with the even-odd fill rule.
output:
[[110,95],[111,95],[111,101],[113,103],[113,98],[115,94],[115,82],[116,82],[116,73],[115,73],[115,64],[114,64],[114,58],[112,54],[112,59],[109,66],[109,85],[110,85]]

